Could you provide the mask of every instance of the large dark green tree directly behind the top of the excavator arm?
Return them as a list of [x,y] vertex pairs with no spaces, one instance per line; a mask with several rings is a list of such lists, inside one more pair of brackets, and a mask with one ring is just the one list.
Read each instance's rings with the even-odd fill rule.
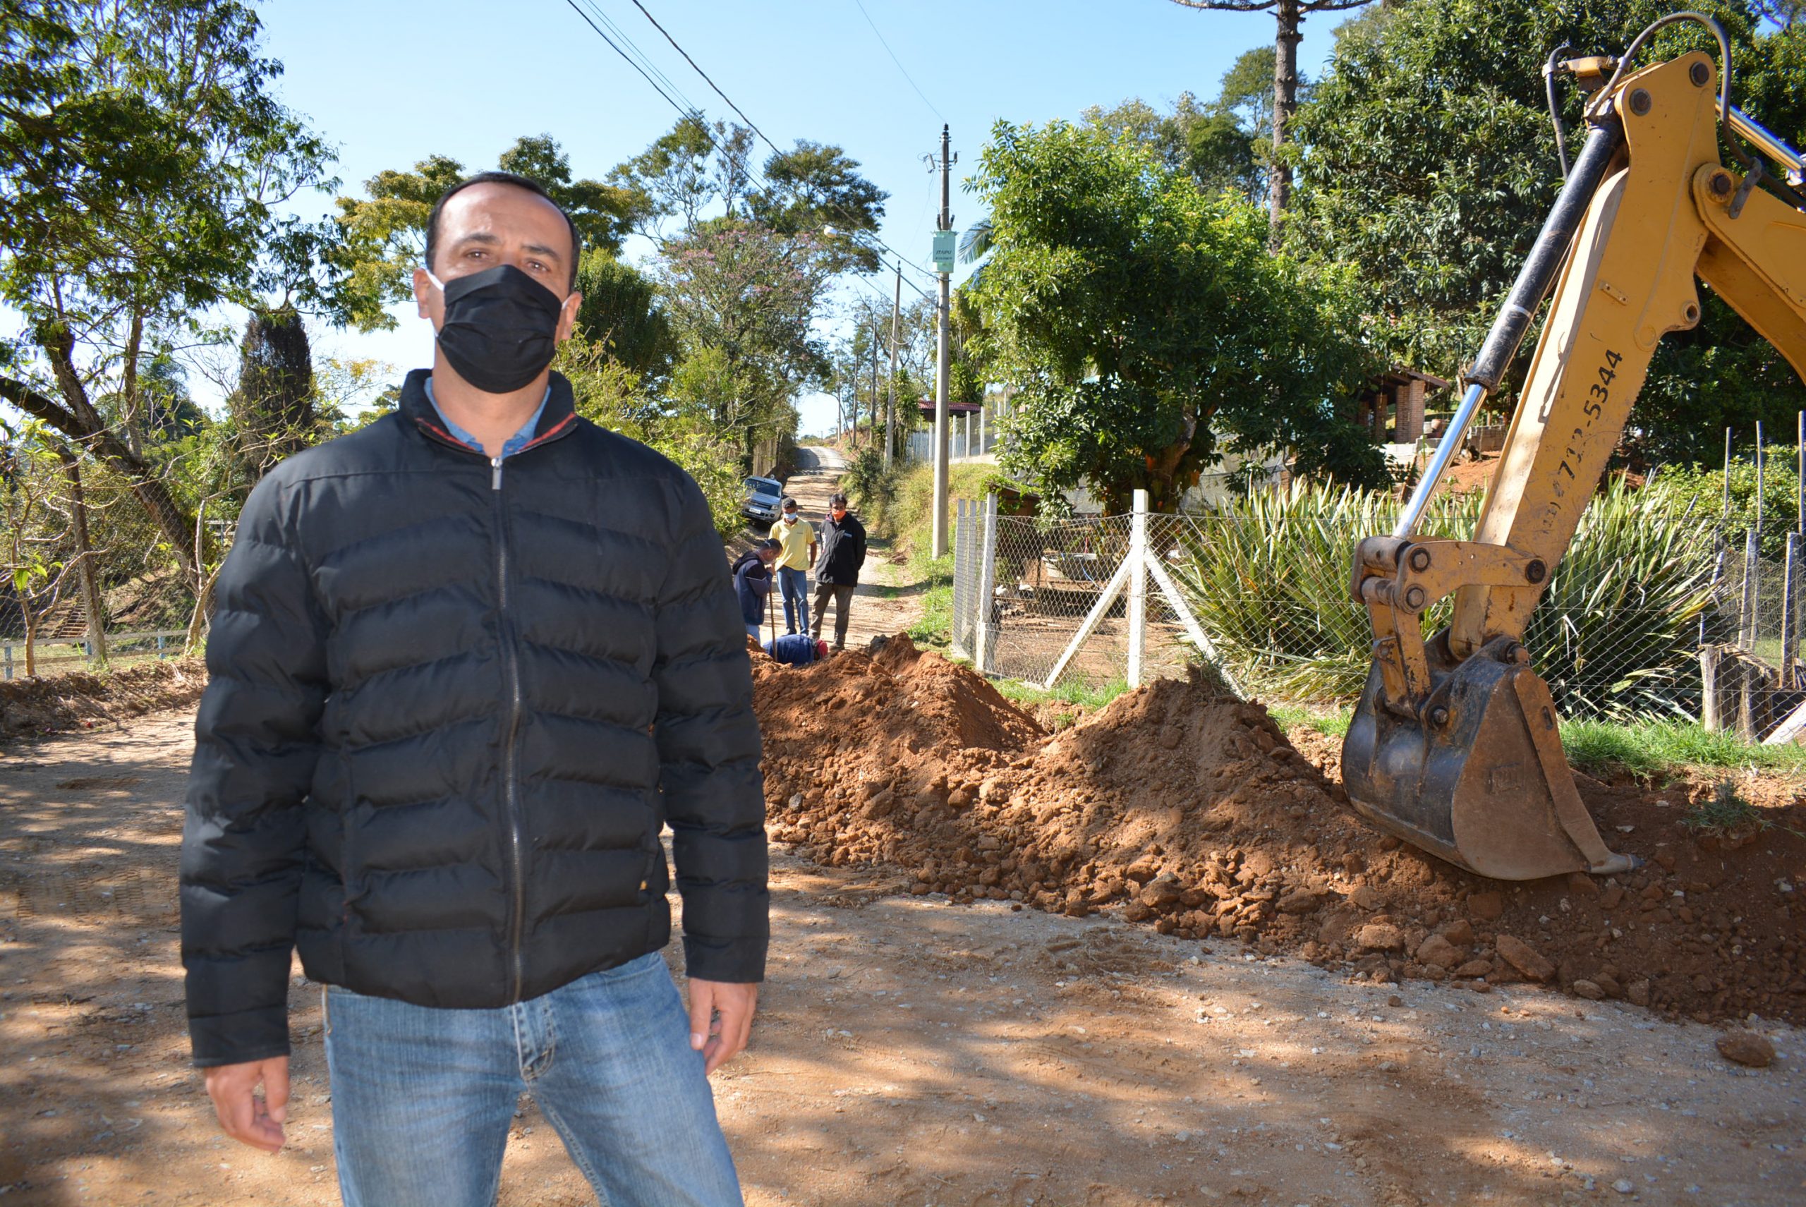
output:
[[[1806,29],[1757,34],[1716,2],[1739,105],[1806,126]],[[1394,361],[1452,374],[1479,347],[1560,188],[1541,65],[1560,43],[1618,52],[1665,0],[1448,0],[1376,9],[1338,31],[1297,121],[1300,253],[1358,266],[1371,331]],[[1712,49],[1696,25],[1656,34],[1643,61]],[[1564,98],[1569,128],[1578,96]],[[1703,322],[1663,340],[1631,416],[1640,459],[1710,459],[1727,425],[1792,421],[1806,390],[1786,361],[1701,291]],[[1526,340],[1513,388],[1528,367]]]

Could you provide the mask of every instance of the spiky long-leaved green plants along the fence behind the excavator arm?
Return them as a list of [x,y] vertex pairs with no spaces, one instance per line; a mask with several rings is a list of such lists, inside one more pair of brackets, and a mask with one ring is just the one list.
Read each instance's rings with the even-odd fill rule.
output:
[[[1347,703],[1367,678],[1373,631],[1349,598],[1362,537],[1396,502],[1293,484],[1179,524],[1176,578],[1239,681],[1286,699]],[[1466,537],[1479,499],[1439,502],[1421,531]],[[1569,716],[1683,716],[1698,706],[1696,634],[1712,604],[1712,537],[1685,508],[1615,484],[1593,501],[1524,643]],[[1450,600],[1423,616],[1448,623]]]

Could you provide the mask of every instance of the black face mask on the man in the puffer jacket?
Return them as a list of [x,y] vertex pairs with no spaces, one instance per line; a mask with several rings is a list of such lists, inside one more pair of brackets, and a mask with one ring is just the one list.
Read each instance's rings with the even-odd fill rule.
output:
[[484,394],[513,394],[545,372],[558,343],[563,302],[513,264],[442,282],[439,351]]

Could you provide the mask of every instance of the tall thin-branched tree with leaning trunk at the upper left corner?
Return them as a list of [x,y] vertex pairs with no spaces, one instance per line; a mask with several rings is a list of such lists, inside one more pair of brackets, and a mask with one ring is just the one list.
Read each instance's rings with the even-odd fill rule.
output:
[[307,242],[276,206],[321,182],[327,150],[271,96],[280,63],[244,4],[0,16],[0,300],[20,320],[0,398],[119,470],[193,575],[206,555],[146,452],[139,376],[193,314],[253,304],[278,242]]

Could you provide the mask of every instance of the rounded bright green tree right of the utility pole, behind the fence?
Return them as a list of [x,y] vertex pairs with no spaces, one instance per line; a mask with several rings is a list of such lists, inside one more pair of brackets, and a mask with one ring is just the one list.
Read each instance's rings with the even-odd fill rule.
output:
[[1268,255],[1259,210],[1136,139],[999,123],[975,177],[995,248],[975,302],[986,376],[1017,390],[1004,468],[1156,508],[1223,452],[1383,481],[1336,416],[1373,369],[1353,291]]

